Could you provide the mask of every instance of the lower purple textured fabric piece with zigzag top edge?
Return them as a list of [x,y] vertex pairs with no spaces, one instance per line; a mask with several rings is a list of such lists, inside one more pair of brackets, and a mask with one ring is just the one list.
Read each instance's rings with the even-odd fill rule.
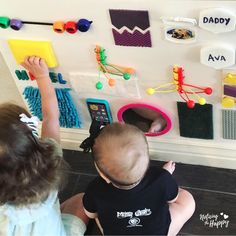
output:
[[138,30],[129,33],[124,30],[122,34],[112,29],[113,37],[116,45],[121,46],[136,46],[136,47],[152,47],[150,31],[142,34]]

